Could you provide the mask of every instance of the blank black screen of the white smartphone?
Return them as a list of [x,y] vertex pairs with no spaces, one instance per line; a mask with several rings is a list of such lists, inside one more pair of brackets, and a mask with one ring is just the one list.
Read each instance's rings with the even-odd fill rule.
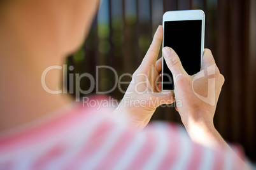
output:
[[[183,68],[189,75],[196,74],[201,68],[202,20],[182,20],[164,22],[164,47],[176,51]],[[163,58],[164,60],[164,58]],[[163,62],[162,89],[173,90],[173,75]]]

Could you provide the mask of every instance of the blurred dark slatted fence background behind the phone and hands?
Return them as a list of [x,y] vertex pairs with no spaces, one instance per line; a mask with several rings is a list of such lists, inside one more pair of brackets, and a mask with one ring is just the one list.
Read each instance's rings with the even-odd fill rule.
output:
[[[225,140],[239,143],[256,159],[256,1],[255,0],[102,0],[82,48],[68,57],[69,73],[88,72],[109,65],[121,74],[132,74],[141,63],[162,15],[170,10],[203,10],[206,15],[205,48],[210,48],[225,77],[218,101],[215,127]],[[159,54],[159,58],[162,54]],[[99,89],[115,84],[111,70],[99,70]],[[68,79],[68,81],[73,81]],[[124,77],[122,81],[131,81]],[[86,78],[82,89],[89,89]],[[122,89],[128,84],[122,84]],[[69,87],[69,91],[74,91]],[[96,92],[95,90],[93,91]],[[109,95],[121,100],[118,88]],[[174,107],[159,107],[153,120],[181,123]]]

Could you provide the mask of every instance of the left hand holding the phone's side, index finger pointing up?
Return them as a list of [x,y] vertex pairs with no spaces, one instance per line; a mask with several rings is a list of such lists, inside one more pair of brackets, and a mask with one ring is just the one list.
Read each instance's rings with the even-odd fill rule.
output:
[[142,129],[150,121],[155,109],[174,102],[172,92],[160,93],[162,58],[157,60],[162,42],[162,26],[159,26],[152,44],[139,68],[132,75],[131,84],[115,113],[127,115],[132,126]]

